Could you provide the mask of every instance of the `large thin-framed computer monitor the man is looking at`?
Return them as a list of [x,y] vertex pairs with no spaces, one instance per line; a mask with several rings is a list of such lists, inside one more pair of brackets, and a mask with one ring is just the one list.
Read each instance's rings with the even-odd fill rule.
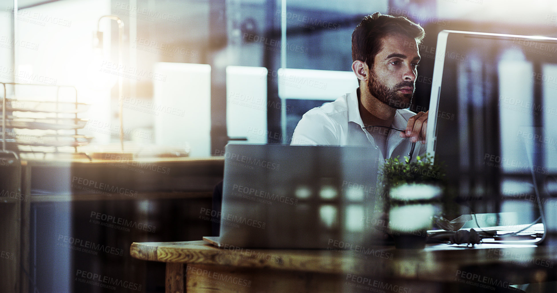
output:
[[536,220],[534,187],[557,173],[557,38],[442,31],[436,51],[427,152],[446,165],[456,203],[447,217]]

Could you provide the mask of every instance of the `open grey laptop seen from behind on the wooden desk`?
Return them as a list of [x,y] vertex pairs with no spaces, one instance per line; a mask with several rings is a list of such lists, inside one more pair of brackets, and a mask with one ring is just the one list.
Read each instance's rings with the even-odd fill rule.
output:
[[344,249],[370,244],[381,201],[372,147],[229,143],[219,247]]

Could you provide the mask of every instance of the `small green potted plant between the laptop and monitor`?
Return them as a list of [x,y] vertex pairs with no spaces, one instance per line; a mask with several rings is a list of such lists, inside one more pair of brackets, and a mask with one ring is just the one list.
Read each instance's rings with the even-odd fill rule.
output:
[[432,216],[439,212],[446,185],[443,167],[429,154],[385,160],[380,171],[388,211],[389,231],[397,248],[423,248]]

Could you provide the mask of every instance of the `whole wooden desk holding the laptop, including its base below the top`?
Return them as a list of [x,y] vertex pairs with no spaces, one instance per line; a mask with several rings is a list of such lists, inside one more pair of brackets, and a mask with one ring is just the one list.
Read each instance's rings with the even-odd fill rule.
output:
[[557,280],[555,246],[500,247],[234,251],[190,241],[133,243],[130,254],[166,262],[172,293],[521,292],[510,286]]

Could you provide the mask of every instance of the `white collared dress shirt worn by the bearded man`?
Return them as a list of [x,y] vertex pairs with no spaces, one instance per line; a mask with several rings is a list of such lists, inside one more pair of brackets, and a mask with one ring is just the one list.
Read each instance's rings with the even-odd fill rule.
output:
[[[334,102],[307,111],[292,135],[291,145],[320,145],[320,146],[370,146],[378,148],[385,158],[408,156],[412,141],[409,138],[401,138],[399,131],[390,130],[387,137],[387,145],[376,143],[375,138],[364,130],[358,107],[357,89],[351,93],[341,96]],[[407,109],[397,110],[390,127],[405,130],[408,118],[416,113]],[[385,154],[386,152],[386,154]],[[416,156],[423,156],[426,145],[416,143],[412,161]],[[387,156],[385,156],[387,155]]]

